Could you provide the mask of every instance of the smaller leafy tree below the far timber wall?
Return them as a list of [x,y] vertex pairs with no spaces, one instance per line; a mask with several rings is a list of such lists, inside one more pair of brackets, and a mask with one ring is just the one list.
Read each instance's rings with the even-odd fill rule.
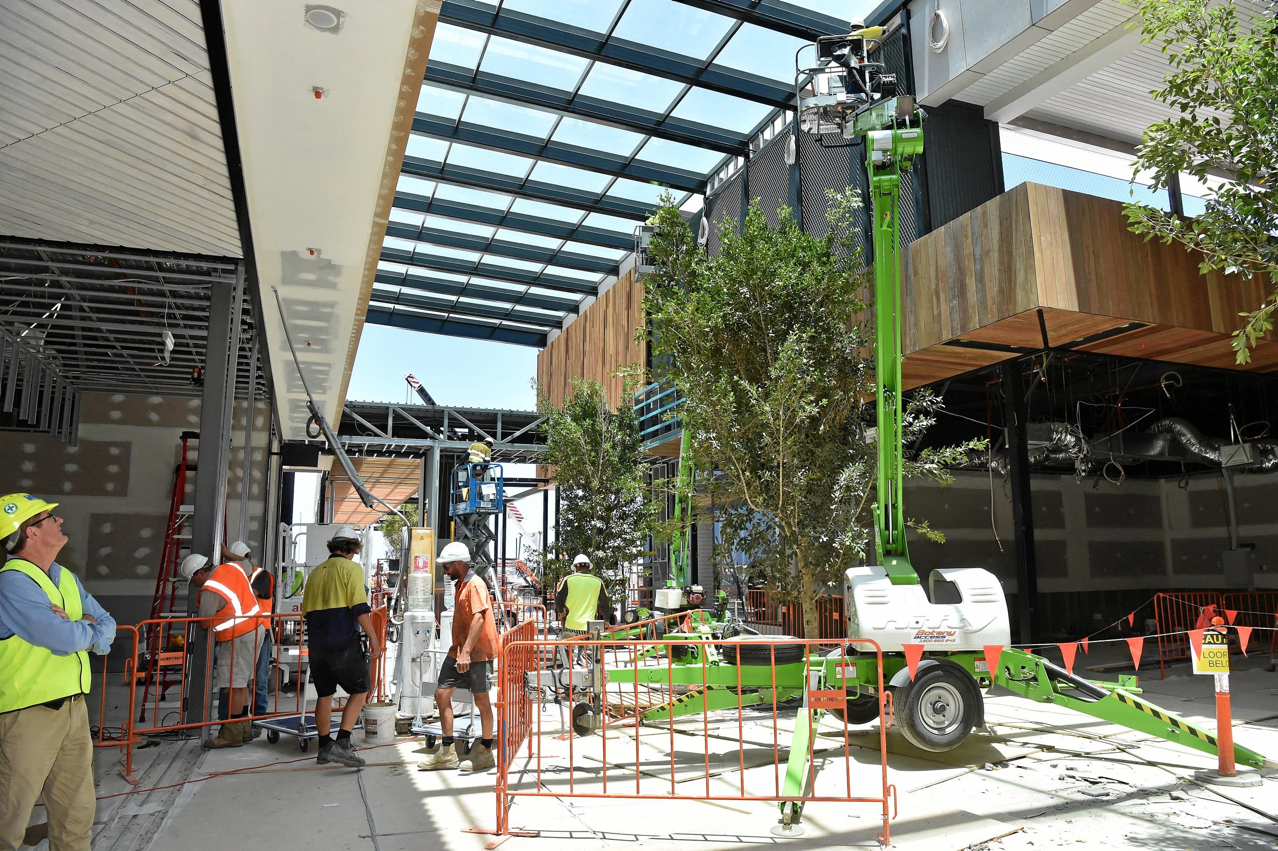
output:
[[[627,376],[622,399],[634,385]],[[553,593],[573,558],[585,553],[615,594],[622,569],[643,556],[648,535],[658,529],[661,505],[644,482],[639,419],[630,405],[612,410],[602,385],[584,378],[573,379],[558,408],[546,396],[538,408],[546,414],[539,461],[552,468],[560,492],[555,547],[539,560],[543,586]]]

